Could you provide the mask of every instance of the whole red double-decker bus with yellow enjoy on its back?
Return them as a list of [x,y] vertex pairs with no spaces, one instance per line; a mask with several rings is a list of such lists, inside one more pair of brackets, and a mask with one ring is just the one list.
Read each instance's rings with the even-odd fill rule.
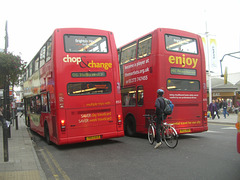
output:
[[124,130],[147,133],[157,89],[175,105],[167,122],[178,133],[208,130],[205,57],[199,35],[159,28],[119,48]]

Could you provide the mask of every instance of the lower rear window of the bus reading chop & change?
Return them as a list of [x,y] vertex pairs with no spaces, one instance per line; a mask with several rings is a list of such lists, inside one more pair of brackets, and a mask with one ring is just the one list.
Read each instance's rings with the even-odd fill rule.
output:
[[78,82],[67,85],[68,95],[109,94],[112,92],[110,82]]

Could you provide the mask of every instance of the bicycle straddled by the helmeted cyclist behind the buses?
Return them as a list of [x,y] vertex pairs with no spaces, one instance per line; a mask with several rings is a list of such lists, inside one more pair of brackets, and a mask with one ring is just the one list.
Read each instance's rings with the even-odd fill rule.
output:
[[[145,114],[143,115],[148,119],[148,141],[153,144],[156,137],[156,125],[155,118],[156,115]],[[169,148],[175,148],[178,144],[178,134],[172,124],[168,124],[166,121],[162,123],[160,134],[162,135],[162,140]],[[163,132],[163,133],[162,133]]]

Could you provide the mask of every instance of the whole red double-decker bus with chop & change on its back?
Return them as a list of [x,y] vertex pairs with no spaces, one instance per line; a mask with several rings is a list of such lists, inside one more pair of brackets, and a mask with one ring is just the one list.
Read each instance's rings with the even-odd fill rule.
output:
[[26,123],[48,143],[124,136],[112,32],[56,29],[26,68]]

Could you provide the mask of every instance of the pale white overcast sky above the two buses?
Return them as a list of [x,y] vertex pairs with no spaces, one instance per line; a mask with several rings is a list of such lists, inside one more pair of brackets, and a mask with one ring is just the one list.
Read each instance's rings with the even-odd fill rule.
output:
[[[239,9],[240,0],[4,0],[0,3],[0,49],[4,49],[6,20],[8,51],[26,62],[56,28],[109,30],[119,47],[159,27],[204,34],[207,20],[220,60],[226,53],[240,51]],[[226,57],[223,65],[229,72],[240,72],[240,59]],[[216,71],[220,72],[220,66]]]

